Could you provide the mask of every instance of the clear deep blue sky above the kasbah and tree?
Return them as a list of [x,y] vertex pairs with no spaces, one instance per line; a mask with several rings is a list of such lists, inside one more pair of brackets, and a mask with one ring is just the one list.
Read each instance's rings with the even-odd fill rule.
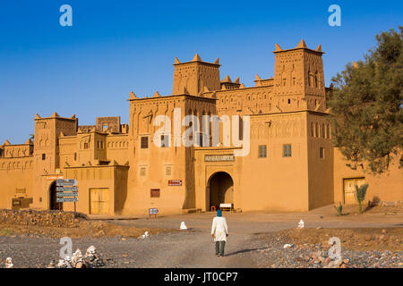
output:
[[[76,114],[128,122],[131,90],[169,95],[174,57],[222,64],[221,78],[273,75],[274,44],[322,44],[326,85],[362,59],[375,35],[403,22],[402,1],[85,1],[2,0],[0,4],[0,144],[23,143],[35,114]],[[73,7],[73,27],[59,8]],[[328,25],[339,4],[342,27]]]

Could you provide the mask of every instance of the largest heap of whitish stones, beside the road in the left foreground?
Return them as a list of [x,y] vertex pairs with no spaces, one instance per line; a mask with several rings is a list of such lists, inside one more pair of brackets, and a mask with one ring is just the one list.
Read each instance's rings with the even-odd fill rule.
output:
[[51,261],[47,268],[99,268],[105,266],[105,262],[97,252],[97,248],[90,246],[85,252],[85,256],[82,257],[80,249],[77,249],[73,253],[73,257],[64,257],[60,259],[56,265],[54,261]]

